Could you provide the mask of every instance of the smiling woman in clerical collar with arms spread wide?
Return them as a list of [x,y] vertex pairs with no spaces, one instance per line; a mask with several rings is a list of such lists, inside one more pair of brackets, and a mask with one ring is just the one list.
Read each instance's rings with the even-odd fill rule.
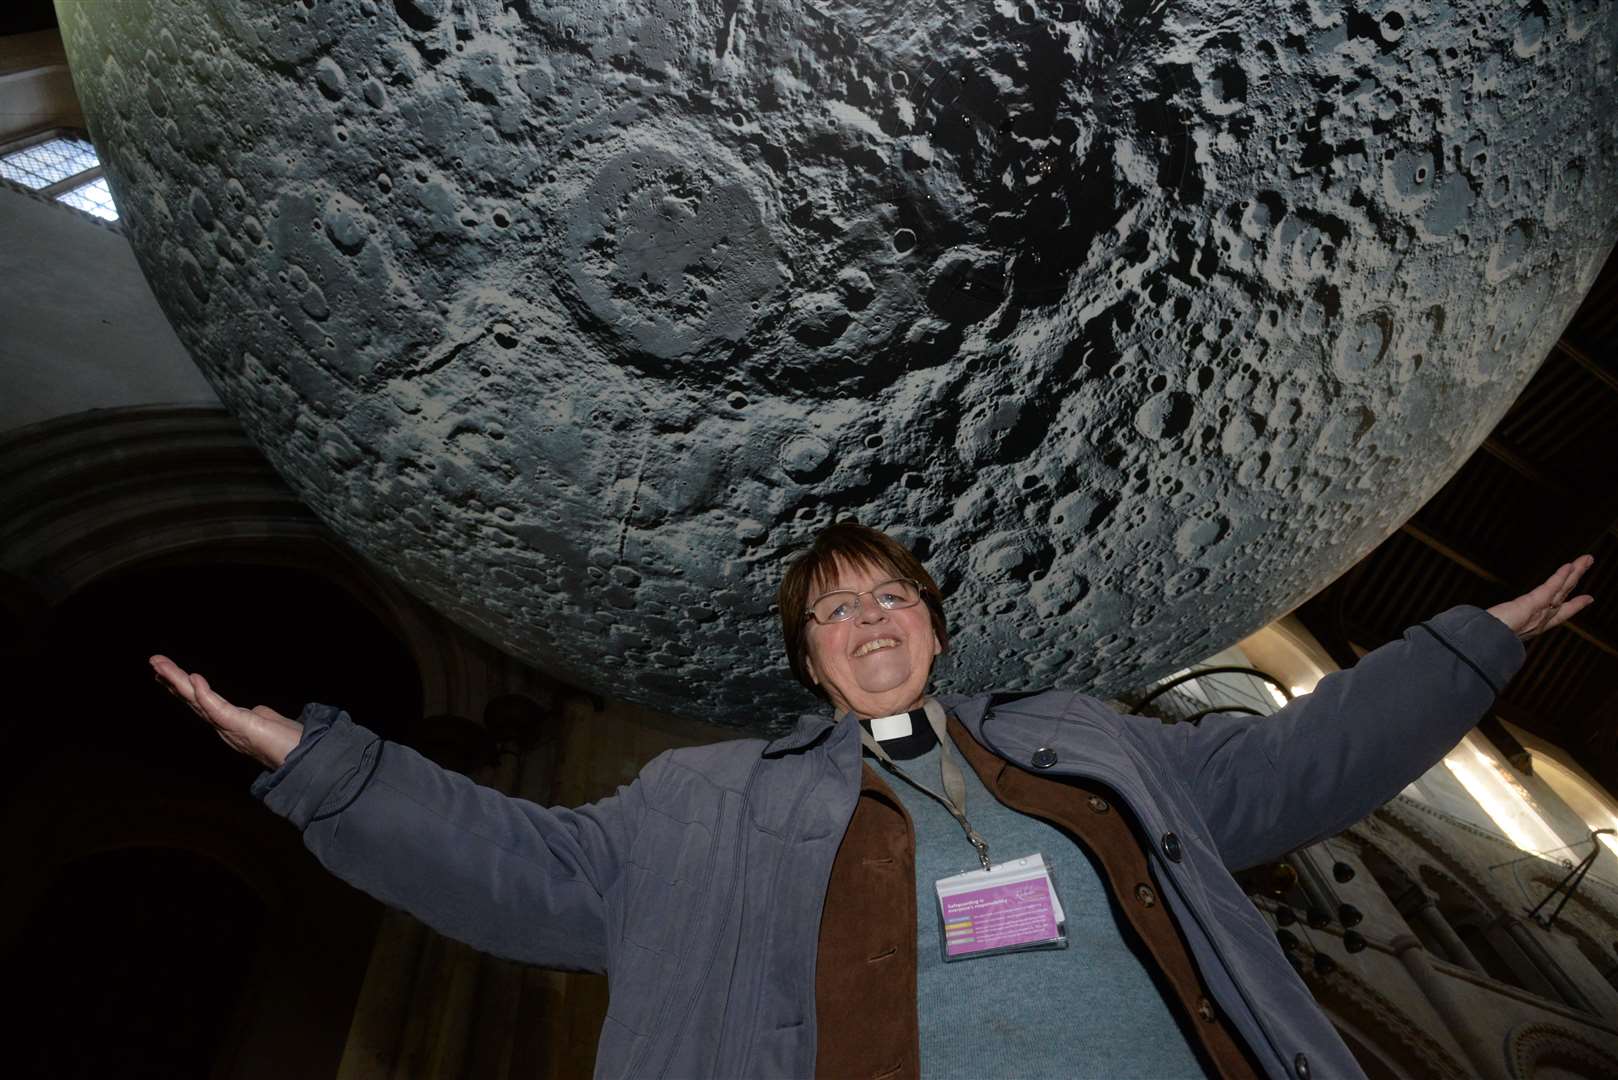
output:
[[[607,972],[599,1075],[1306,1080],[1359,1070],[1230,871],[1437,763],[1519,638],[1590,602],[1569,599],[1590,562],[1451,609],[1275,716],[1163,725],[1069,691],[934,701],[937,585],[888,536],[835,525],[780,610],[793,672],[837,719],[665,753],[576,810],[481,789],[330,706],[241,709],[152,665],[270,769],[254,793],[333,873],[492,954]],[[989,923],[947,891],[1019,857],[1053,891],[1019,889],[1032,907],[993,933],[1040,929],[955,963]]]

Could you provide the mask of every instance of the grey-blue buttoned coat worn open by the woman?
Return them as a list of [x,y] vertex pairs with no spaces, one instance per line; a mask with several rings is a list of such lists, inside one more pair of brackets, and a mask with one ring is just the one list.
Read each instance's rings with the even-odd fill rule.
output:
[[[1396,795],[1521,662],[1505,623],[1455,607],[1269,717],[1163,725],[1060,690],[940,701],[1006,761],[1113,789],[1230,1023],[1272,1077],[1319,1080],[1361,1070],[1230,871]],[[605,972],[597,1075],[814,1074],[820,905],[861,776],[851,719],[673,750],[578,810],[479,787],[330,706],[303,722],[254,792],[328,870],[435,929]]]

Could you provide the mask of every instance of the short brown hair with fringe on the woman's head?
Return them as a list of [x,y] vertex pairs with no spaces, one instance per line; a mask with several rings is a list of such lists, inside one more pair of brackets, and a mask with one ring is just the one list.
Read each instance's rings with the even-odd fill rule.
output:
[[819,596],[837,583],[841,567],[875,567],[892,570],[896,578],[911,578],[921,586],[922,602],[932,615],[932,631],[938,648],[950,648],[950,631],[943,623],[943,593],[927,573],[927,567],[887,533],[856,521],[838,521],[820,529],[809,551],[798,555],[781,578],[778,596],[781,609],[781,638],[786,643],[786,662],[793,675],[817,696],[825,690],[809,677],[809,597]]

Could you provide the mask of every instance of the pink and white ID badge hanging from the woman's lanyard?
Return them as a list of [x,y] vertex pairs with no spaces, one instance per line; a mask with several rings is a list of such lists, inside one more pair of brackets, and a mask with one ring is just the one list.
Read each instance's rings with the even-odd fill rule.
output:
[[1068,920],[1057,899],[1057,882],[1037,852],[989,870],[940,878],[934,889],[947,963],[1068,947]]

